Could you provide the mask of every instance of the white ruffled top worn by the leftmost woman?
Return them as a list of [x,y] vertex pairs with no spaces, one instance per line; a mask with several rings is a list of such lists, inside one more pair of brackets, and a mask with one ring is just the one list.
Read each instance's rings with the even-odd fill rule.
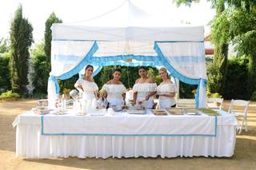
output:
[[[78,89],[78,85],[82,85],[82,98],[86,100],[96,99],[96,93],[98,91],[98,85],[95,82],[86,81],[84,79],[79,79],[74,87]],[[79,89],[78,89],[79,90]]]

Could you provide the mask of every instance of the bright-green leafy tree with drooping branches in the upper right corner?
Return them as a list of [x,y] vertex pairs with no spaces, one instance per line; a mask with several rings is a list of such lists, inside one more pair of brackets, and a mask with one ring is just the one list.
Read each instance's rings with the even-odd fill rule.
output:
[[[178,5],[191,5],[195,0],[176,0]],[[256,1],[255,0],[211,0],[216,9],[212,24],[212,41],[222,46],[215,50],[217,68],[222,72],[222,84],[226,77],[226,42],[233,42],[238,57],[249,58],[247,99],[256,91]],[[217,46],[217,48],[218,48]],[[224,57],[222,57],[222,55]],[[223,86],[222,86],[223,87]],[[223,89],[223,88],[222,88]]]

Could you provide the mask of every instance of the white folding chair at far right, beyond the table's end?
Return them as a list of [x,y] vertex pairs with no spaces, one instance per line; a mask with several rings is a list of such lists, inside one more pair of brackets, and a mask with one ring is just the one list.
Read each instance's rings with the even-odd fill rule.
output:
[[[228,113],[234,113],[234,115],[236,117],[242,117],[242,124],[238,125],[238,134],[240,134],[242,132],[242,129],[245,129],[246,132],[248,130],[248,128],[247,128],[247,110],[248,110],[249,103],[250,103],[250,101],[233,100],[233,99],[231,100],[230,109],[229,109]],[[243,106],[244,107],[243,113],[234,112],[234,105]]]

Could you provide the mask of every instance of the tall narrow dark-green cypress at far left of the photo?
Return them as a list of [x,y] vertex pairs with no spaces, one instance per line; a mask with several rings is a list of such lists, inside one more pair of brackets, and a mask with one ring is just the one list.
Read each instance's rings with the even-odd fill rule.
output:
[[10,26],[10,80],[14,92],[26,93],[32,32],[33,27],[22,17],[22,6],[19,5]]

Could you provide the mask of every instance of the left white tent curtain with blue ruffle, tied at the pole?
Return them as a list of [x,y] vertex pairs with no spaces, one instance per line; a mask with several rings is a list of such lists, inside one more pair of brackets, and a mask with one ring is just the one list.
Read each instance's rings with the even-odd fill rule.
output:
[[77,66],[90,53],[94,42],[52,41],[51,45],[51,72],[47,91],[49,107],[54,108],[54,103],[58,100],[56,78],[65,79],[78,73],[81,69],[77,70]]

